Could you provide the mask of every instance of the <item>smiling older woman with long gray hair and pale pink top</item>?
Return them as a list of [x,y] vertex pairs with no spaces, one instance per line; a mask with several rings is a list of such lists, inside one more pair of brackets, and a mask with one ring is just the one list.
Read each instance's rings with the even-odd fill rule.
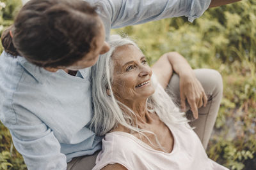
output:
[[151,69],[130,39],[111,36],[109,45],[91,69],[91,127],[106,134],[93,169],[227,169],[207,157],[164,90],[181,55],[166,53]]

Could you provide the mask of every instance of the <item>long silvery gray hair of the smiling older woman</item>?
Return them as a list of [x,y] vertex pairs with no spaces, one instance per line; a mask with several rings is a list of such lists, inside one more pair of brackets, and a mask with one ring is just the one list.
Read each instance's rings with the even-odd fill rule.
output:
[[[102,136],[111,129],[114,129],[118,124],[124,125],[131,131],[143,133],[148,132],[138,128],[137,122],[132,118],[136,117],[135,113],[115,99],[111,84],[113,81],[114,63],[111,59],[113,53],[118,46],[134,45],[140,49],[136,43],[129,38],[121,38],[118,35],[110,36],[110,50],[108,53],[101,55],[95,66],[91,67],[92,77],[92,100],[94,115],[91,122],[92,130]],[[157,82],[154,73],[151,78],[155,92],[147,99],[147,109],[150,113],[157,113],[158,117],[165,124],[182,124],[188,120],[184,117],[184,113],[180,113],[179,108],[175,106],[172,98],[164,91],[163,87]],[[107,89],[109,93],[107,93]],[[127,111],[121,109],[125,108]],[[152,132],[150,132],[152,133]]]

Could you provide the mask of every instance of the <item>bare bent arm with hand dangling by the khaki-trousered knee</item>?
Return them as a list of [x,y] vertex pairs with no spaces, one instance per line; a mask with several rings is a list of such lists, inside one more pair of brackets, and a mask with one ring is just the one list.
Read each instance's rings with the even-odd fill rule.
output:
[[164,89],[167,87],[173,71],[180,76],[181,108],[185,110],[187,100],[194,117],[198,118],[198,108],[203,104],[206,106],[207,96],[187,60],[177,52],[165,53],[152,66],[152,70]]

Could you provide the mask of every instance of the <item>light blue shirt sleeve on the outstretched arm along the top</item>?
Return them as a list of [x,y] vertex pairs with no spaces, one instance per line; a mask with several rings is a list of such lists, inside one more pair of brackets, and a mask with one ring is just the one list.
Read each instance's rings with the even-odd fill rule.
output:
[[111,28],[186,16],[189,22],[200,17],[211,0],[101,0],[111,18]]

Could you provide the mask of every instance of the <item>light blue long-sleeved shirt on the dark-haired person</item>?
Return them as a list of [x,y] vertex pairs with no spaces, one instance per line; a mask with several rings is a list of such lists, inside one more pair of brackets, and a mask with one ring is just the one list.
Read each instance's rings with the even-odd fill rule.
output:
[[[211,0],[100,0],[97,3],[106,38],[111,28],[162,18],[200,17]],[[73,157],[101,148],[101,137],[88,124],[92,118],[88,68],[70,76],[51,73],[23,57],[0,57],[0,119],[28,169],[66,169]]]

